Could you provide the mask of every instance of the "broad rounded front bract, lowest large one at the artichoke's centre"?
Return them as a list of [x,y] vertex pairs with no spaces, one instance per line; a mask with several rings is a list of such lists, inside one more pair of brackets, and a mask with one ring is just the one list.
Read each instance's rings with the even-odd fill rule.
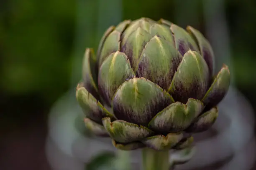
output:
[[145,78],[124,82],[113,98],[113,111],[120,120],[138,125],[148,122],[164,107],[172,103],[168,92]]

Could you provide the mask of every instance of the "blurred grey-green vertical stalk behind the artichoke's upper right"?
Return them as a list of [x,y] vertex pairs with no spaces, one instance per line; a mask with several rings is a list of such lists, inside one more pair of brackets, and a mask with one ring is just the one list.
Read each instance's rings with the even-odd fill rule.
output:
[[[202,0],[205,18],[205,28],[208,40],[211,42],[215,53],[216,68],[223,63],[228,65],[230,72],[233,71],[233,62],[230,53],[230,32],[225,14],[225,1]],[[221,41],[219,40],[221,37]],[[231,84],[234,82],[234,74],[231,74]]]

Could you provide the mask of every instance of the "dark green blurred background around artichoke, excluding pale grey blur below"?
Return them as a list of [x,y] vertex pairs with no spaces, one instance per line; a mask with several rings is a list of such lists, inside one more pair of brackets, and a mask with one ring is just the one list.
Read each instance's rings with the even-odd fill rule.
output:
[[85,47],[96,50],[110,25],[142,16],[203,32],[217,70],[230,66],[256,110],[255,0],[0,0],[1,170],[51,170],[49,112],[80,80]]

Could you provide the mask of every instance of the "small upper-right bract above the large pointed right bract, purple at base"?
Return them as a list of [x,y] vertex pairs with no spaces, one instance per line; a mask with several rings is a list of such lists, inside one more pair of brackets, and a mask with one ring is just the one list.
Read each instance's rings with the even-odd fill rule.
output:
[[179,50],[182,55],[184,55],[188,50],[199,52],[195,40],[193,40],[186,30],[175,24],[172,24],[170,29],[174,34],[176,49]]

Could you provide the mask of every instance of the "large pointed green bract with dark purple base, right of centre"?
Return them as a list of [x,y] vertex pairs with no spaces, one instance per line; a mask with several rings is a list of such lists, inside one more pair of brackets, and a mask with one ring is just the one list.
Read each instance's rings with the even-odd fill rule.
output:
[[189,50],[182,58],[169,87],[175,101],[186,103],[189,98],[201,100],[207,91],[209,69],[202,56]]

